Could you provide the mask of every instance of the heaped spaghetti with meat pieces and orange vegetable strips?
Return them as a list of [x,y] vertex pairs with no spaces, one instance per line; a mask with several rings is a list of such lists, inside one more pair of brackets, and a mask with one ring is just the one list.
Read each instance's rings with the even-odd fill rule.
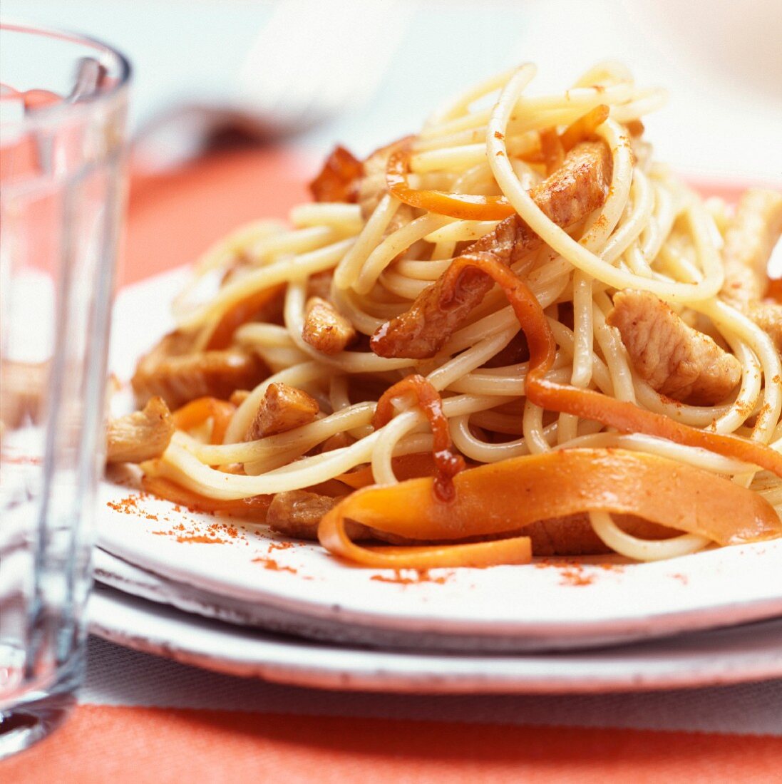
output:
[[195,265],[110,462],[198,510],[390,568],[782,535],[782,194],[705,200],[620,64],[535,67]]

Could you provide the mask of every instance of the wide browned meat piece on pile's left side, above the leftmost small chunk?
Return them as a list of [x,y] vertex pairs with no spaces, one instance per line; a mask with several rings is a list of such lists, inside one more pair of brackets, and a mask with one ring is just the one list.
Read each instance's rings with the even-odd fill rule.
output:
[[171,332],[140,359],[131,381],[139,405],[155,395],[171,409],[196,397],[225,400],[235,390],[253,389],[268,375],[255,354],[239,348],[189,353],[191,340]]

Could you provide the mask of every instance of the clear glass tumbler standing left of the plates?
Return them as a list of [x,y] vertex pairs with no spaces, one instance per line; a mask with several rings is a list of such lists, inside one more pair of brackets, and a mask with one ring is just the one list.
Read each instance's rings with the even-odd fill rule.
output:
[[0,23],[0,759],[82,677],[130,68]]

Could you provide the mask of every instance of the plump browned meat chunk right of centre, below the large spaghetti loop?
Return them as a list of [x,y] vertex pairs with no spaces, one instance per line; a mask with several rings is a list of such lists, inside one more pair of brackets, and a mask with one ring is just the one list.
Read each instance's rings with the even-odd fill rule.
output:
[[606,321],[619,330],[638,375],[660,394],[714,405],[741,380],[741,364],[733,354],[686,325],[654,294],[617,292]]

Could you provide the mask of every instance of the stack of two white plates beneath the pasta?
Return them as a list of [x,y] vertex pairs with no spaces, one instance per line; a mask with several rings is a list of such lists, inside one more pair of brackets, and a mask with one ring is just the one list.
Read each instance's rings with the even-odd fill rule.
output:
[[[169,328],[165,314],[186,275],[122,292],[111,358],[121,378]],[[782,676],[782,540],[650,564],[544,560],[396,574],[127,484],[105,482],[100,493],[93,632],[213,670],[400,691]]]

